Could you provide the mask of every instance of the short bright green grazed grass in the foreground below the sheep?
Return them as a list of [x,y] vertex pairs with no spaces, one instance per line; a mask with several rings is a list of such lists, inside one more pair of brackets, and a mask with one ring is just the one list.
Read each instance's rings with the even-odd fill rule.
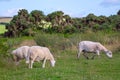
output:
[[[86,60],[82,55],[76,59],[76,52],[63,51],[56,56],[56,66],[52,68],[47,61],[46,67],[35,63],[28,69],[22,61],[19,66],[10,61],[0,67],[0,80],[119,80],[120,53],[109,59],[105,54],[94,60]],[[5,61],[4,61],[5,62]],[[8,67],[9,65],[9,67]]]

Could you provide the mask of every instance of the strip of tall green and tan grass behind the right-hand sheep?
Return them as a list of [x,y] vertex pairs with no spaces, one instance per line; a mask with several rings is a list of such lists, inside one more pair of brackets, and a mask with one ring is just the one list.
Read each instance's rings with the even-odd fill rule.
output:
[[[47,46],[51,49],[65,50],[65,49],[75,49],[80,41],[90,40],[100,42],[108,49],[115,50],[120,46],[120,35],[117,33],[86,33],[86,34],[45,34],[39,33],[35,36],[35,41],[38,45]],[[114,46],[113,46],[114,45]]]

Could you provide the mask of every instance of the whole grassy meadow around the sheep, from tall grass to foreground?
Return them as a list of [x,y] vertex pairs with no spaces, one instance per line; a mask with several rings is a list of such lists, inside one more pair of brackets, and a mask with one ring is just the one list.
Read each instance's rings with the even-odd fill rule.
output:
[[[87,60],[83,55],[77,59],[77,44],[82,40],[102,43],[113,52],[113,58],[101,53],[94,60]],[[0,80],[120,80],[119,32],[39,33],[35,37],[0,38],[0,41]],[[49,61],[44,69],[42,63],[34,63],[33,69],[28,69],[24,60],[18,66],[14,64],[9,53],[22,45],[35,45],[31,41],[50,49],[56,60],[55,67],[51,67]]]

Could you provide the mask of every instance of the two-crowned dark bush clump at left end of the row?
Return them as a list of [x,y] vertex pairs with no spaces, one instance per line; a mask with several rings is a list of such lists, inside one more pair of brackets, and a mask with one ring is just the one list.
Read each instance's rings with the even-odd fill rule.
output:
[[44,18],[42,11],[32,11],[30,14],[27,10],[22,9],[18,15],[14,16],[10,24],[6,26],[8,31],[5,36],[19,37],[22,35],[33,35],[39,29],[39,21]]

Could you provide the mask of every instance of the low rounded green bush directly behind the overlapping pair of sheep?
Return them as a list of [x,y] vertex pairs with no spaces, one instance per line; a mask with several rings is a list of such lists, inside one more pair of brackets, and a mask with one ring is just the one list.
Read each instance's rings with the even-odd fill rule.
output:
[[71,47],[69,39],[62,34],[39,33],[34,37],[36,43],[40,46],[50,47],[52,49],[65,50]]

